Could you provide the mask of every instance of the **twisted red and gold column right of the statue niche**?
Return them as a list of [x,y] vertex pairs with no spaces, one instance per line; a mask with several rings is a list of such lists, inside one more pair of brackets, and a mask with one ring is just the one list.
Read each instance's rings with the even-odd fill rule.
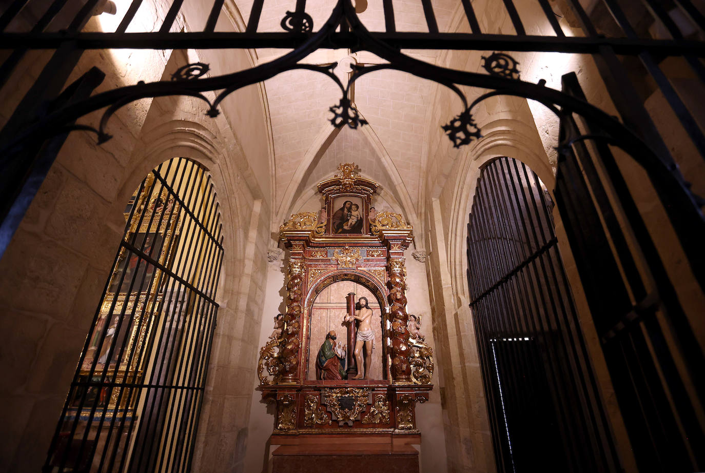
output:
[[409,365],[409,331],[407,330],[406,313],[406,278],[402,258],[389,260],[389,303],[392,317],[392,377],[400,383],[411,382],[411,367]]

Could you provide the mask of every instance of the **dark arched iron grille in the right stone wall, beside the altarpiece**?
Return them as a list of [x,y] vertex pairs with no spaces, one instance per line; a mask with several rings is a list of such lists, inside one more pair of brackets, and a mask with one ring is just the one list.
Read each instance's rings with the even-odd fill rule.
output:
[[539,178],[511,158],[478,179],[468,223],[470,307],[498,469],[615,472]]

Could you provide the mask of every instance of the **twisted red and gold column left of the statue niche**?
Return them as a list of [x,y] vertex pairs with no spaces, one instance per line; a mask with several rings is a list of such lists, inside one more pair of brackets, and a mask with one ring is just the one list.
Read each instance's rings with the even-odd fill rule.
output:
[[297,383],[299,367],[299,331],[301,329],[301,284],[303,283],[304,264],[290,261],[288,266],[289,281],[286,283],[286,314],[283,341],[281,345],[282,377],[281,383]]

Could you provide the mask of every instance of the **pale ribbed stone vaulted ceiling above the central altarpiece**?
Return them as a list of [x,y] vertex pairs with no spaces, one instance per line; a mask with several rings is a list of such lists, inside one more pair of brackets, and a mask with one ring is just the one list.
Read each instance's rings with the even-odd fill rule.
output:
[[[306,11],[317,30],[329,17],[335,1],[308,0]],[[245,24],[252,0],[235,0]],[[457,0],[433,0],[441,31],[450,31]],[[428,31],[419,0],[394,0],[398,31]],[[259,20],[260,31],[280,32],[281,19],[293,11],[296,0],[265,0]],[[367,0],[360,19],[369,30],[384,30],[382,0]],[[260,49],[259,63],[287,51]],[[406,51],[424,61],[434,62],[435,51]],[[302,62],[335,63],[350,51],[317,51]],[[358,63],[379,63],[365,53],[354,55]],[[347,81],[340,67],[334,71]],[[288,217],[291,207],[309,192],[311,186],[335,173],[339,163],[355,161],[362,175],[379,182],[396,200],[409,219],[419,211],[422,192],[422,166],[427,152],[429,110],[436,85],[397,71],[379,71],[355,83],[353,102],[369,121],[366,130],[333,133],[329,107],[338,104],[341,91],[332,80],[310,71],[282,73],[264,83],[274,140],[274,208],[276,219]],[[434,131],[440,133],[440,130]],[[333,142],[335,145],[331,145]],[[341,145],[345,143],[345,146]],[[357,148],[357,149],[355,149]],[[353,157],[354,156],[354,157]],[[410,208],[407,208],[410,207]],[[412,214],[414,217],[412,217]],[[274,222],[276,223],[276,222]],[[281,223],[281,222],[279,222]],[[276,223],[278,225],[278,223]]]

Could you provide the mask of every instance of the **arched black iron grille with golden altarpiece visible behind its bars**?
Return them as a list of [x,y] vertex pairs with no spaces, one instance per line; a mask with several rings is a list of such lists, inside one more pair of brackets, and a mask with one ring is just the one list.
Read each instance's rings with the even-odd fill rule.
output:
[[188,471],[223,259],[209,173],[175,158],[140,184],[45,472]]

